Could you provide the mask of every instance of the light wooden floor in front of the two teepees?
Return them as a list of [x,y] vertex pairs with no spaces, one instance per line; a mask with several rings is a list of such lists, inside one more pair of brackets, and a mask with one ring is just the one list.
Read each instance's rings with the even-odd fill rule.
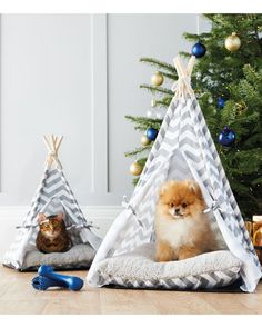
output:
[[[71,274],[87,276],[87,271]],[[0,267],[0,315],[262,314],[262,282],[254,294],[90,288],[87,284],[81,291],[38,291],[31,287],[34,276]]]

